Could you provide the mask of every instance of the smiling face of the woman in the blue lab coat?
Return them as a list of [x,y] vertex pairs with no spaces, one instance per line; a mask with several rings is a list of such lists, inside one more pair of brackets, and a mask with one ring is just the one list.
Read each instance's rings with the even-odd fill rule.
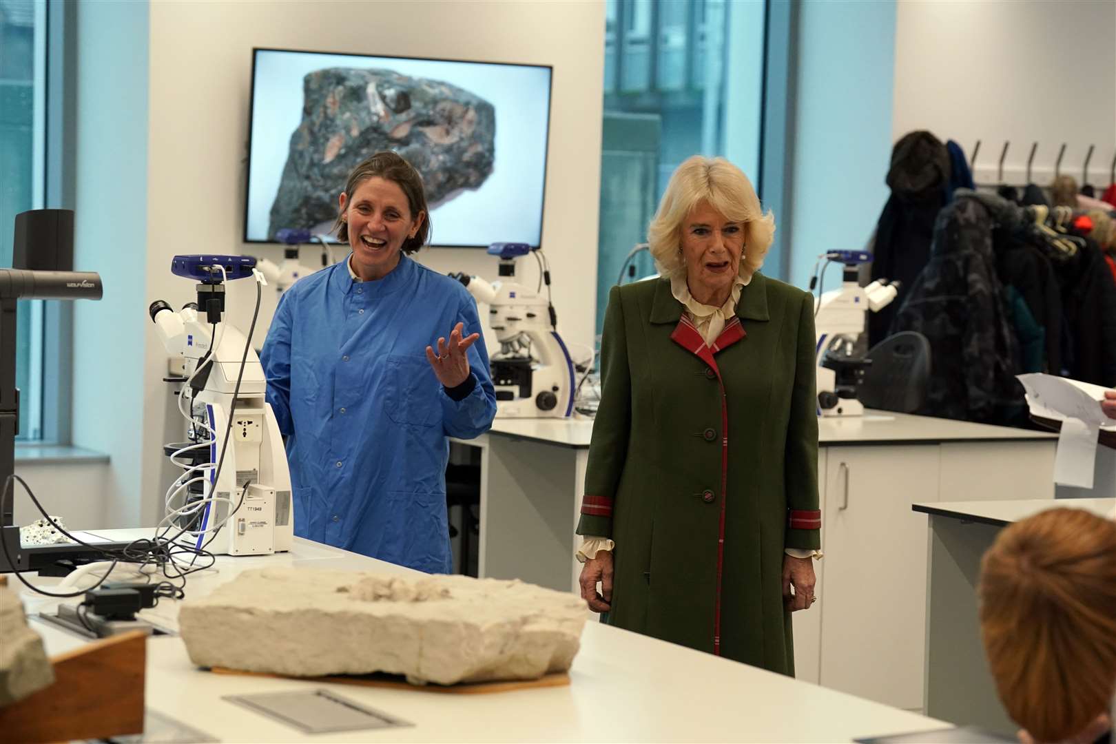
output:
[[340,195],[348,224],[353,270],[366,281],[383,279],[400,262],[400,251],[414,238],[426,215],[411,214],[406,194],[394,181],[373,176]]

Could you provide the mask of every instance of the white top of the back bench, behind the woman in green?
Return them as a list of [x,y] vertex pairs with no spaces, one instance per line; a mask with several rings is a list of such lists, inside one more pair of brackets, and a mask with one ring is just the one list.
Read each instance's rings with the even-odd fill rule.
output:
[[[588,447],[591,418],[497,418],[491,434],[536,439],[568,447]],[[1057,434],[989,426],[949,418],[868,410],[864,416],[818,418],[818,443],[830,445],[933,444],[939,442],[1055,441]],[[468,442],[465,442],[468,444]]]

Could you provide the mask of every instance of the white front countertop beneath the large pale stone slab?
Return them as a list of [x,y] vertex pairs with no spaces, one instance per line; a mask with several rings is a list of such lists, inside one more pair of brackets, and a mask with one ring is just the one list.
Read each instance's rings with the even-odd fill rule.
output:
[[[137,531],[104,531],[116,540]],[[143,530],[142,535],[150,534]],[[235,573],[269,566],[363,569],[406,573],[355,553],[296,539],[290,553],[218,559],[215,570],[189,579],[199,596]],[[57,580],[42,580],[46,587]],[[25,592],[29,610],[51,600]],[[176,627],[176,602],[152,620]],[[594,616],[595,617],[595,616]],[[32,621],[57,654],[80,639]],[[246,639],[246,642],[251,642]],[[389,731],[305,735],[222,699],[228,695],[329,687],[354,702],[414,724]],[[214,675],[191,665],[177,637],[147,644],[147,706],[222,741],[733,741],[848,742],[947,727],[816,685],[713,657],[682,646],[588,621],[570,685],[490,695],[435,695],[290,679]]]

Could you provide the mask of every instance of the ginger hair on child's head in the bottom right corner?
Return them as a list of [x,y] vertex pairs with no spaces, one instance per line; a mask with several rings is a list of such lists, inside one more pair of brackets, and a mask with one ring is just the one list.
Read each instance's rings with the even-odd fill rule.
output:
[[1051,509],[981,561],[980,624],[997,692],[1037,741],[1060,742],[1116,690],[1116,522]]

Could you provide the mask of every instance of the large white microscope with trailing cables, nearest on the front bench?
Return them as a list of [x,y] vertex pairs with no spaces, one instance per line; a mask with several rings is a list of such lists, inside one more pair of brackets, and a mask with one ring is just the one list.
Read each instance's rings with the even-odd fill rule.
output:
[[290,550],[290,471],[263,367],[223,317],[225,282],[256,276],[262,286],[262,274],[247,255],[175,255],[171,271],[198,281],[198,299],[177,312],[163,300],[148,308],[166,352],[185,358],[184,376],[167,381],[182,384],[187,441],[164,447],[185,472],[167,491],[161,526],[170,522],[180,542],[214,554]]

